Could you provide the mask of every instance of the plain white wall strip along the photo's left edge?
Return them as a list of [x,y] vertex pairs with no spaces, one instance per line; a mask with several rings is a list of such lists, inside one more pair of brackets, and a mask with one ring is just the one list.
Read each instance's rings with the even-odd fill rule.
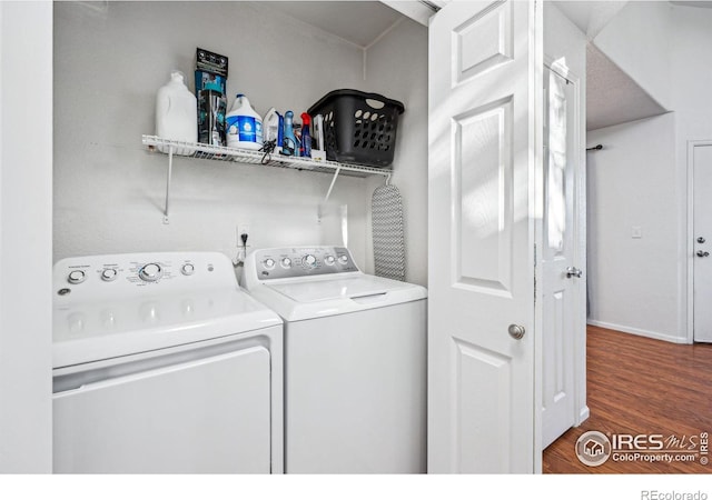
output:
[[51,472],[52,2],[0,2],[0,473]]

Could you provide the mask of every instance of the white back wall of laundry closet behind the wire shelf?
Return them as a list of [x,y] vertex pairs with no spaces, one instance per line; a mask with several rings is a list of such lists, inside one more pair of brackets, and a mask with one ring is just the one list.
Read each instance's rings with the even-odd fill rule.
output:
[[[86,3],[86,2],[82,2]],[[156,91],[172,69],[190,81],[196,47],[229,58],[228,106],[296,114],[326,92],[363,87],[363,51],[246,2],[56,3],[55,260],[90,253],[219,250],[235,257],[236,224],[253,248],[334,242],[317,223],[332,177],[177,159],[170,223],[162,223],[167,157],[149,153]],[[332,206],[348,206],[348,244],[365,262],[366,180],[340,177]],[[334,210],[336,212],[336,210]],[[330,241],[329,241],[330,240]]]

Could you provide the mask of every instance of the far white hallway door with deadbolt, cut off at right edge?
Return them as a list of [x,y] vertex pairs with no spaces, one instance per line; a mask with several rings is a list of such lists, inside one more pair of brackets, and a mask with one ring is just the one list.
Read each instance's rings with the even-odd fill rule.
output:
[[712,342],[712,146],[693,151],[694,341]]

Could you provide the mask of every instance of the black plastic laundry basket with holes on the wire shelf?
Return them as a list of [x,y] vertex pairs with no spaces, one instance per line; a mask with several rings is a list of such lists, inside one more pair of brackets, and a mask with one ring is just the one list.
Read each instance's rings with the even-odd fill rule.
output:
[[324,117],[326,159],[343,163],[388,167],[393,163],[402,102],[377,93],[342,89],[309,108]]

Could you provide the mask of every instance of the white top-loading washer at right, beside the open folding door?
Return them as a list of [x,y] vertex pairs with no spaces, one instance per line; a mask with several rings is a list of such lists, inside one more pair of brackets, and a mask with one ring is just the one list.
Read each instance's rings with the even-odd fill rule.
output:
[[285,471],[426,471],[426,290],[346,248],[257,250],[241,284],[285,320]]

